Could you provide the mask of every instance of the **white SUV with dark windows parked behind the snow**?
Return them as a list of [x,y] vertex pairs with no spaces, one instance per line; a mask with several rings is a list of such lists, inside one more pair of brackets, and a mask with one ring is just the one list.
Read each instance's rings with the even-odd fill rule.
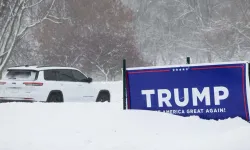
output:
[[71,67],[8,68],[0,80],[0,102],[110,102],[110,92]]

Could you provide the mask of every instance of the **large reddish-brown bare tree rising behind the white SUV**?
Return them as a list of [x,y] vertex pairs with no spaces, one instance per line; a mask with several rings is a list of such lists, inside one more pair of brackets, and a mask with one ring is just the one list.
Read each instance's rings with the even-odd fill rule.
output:
[[65,6],[71,22],[44,22],[35,31],[45,64],[77,67],[100,80],[121,75],[123,58],[129,65],[142,65],[132,12],[120,0],[66,1]]

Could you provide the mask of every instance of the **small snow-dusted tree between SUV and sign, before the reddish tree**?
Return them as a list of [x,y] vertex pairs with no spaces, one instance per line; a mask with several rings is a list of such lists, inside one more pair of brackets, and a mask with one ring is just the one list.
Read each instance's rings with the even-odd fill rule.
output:
[[130,43],[130,37],[112,36],[96,33],[88,43],[82,54],[83,61],[93,66],[92,72],[104,77],[105,81],[114,80],[121,75],[122,59],[127,59],[128,67],[142,66],[144,61],[140,57],[135,45]]

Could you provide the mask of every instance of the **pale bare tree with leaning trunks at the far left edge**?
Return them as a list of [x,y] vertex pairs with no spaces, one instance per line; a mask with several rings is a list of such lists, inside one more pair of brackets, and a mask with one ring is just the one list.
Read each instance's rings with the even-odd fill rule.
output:
[[[2,0],[0,6],[0,71],[8,62],[13,49],[28,31],[43,21],[61,23],[52,14],[55,0]],[[44,10],[45,11],[41,11]],[[36,12],[34,11],[36,10]]]

